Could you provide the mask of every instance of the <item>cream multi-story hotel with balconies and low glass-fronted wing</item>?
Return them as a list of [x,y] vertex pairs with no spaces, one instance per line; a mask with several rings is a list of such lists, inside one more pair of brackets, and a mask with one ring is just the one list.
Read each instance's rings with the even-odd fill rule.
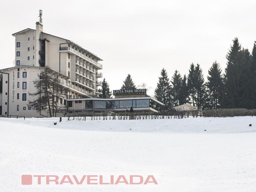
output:
[[[35,100],[30,96],[30,93],[36,92],[33,81],[39,78],[45,66],[54,70],[60,84],[67,90],[66,98],[58,101],[66,106],[66,112],[107,108],[111,99],[103,101],[104,99],[98,97],[102,94],[102,64],[99,63],[102,60],[71,40],[43,32],[41,16],[40,12],[40,22],[36,22],[36,30],[26,28],[12,34],[15,37],[15,66],[0,70],[3,76],[0,115],[49,116],[48,110],[40,106],[29,106],[29,101]],[[133,106],[138,110],[144,108],[156,111],[151,108],[150,102],[161,104],[150,97],[139,98],[138,101],[126,100],[118,99],[115,108],[122,111]]]

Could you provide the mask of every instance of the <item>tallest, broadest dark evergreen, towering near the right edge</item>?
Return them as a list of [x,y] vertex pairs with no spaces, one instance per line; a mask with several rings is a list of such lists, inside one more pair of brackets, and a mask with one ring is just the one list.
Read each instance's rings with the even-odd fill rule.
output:
[[233,40],[227,56],[224,75],[225,108],[252,108],[252,61],[248,49],[242,49],[238,38]]

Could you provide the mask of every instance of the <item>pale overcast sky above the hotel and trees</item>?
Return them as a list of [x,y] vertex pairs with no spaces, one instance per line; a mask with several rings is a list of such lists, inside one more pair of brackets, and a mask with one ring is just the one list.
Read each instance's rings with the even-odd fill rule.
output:
[[[43,10],[44,32],[72,40],[102,58],[103,77],[120,89],[130,73],[154,94],[162,68],[204,76],[216,60],[222,70],[232,40],[251,52],[256,40],[255,0],[12,0],[1,2],[0,68],[14,66],[13,33],[35,29]],[[103,80],[103,78],[102,78]]]

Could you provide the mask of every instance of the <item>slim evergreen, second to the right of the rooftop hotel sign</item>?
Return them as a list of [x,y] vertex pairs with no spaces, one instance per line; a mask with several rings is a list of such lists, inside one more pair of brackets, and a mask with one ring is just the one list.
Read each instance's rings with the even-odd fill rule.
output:
[[175,70],[174,75],[172,76],[171,84],[172,104],[174,104],[174,106],[178,106],[180,105],[180,100],[182,98],[182,77],[177,70]]

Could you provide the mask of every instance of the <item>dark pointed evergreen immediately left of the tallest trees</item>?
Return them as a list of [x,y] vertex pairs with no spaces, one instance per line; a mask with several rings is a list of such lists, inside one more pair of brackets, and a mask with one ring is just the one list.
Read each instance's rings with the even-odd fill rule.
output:
[[223,96],[223,77],[220,69],[220,64],[216,61],[208,70],[206,86],[208,88],[208,108],[218,109],[221,108]]

